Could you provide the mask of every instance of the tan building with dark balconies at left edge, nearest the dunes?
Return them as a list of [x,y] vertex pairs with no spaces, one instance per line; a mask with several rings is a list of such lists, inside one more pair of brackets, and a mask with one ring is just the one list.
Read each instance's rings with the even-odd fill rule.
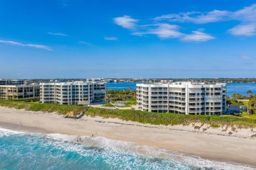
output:
[[0,85],[0,99],[39,97],[39,85]]

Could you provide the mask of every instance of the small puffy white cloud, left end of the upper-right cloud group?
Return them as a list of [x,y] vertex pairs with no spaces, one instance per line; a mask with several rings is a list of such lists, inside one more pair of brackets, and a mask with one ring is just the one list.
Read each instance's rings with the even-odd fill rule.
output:
[[124,17],[117,17],[113,19],[114,22],[123,28],[132,29],[136,26],[136,23],[138,22],[137,19],[131,18],[131,16],[124,15]]

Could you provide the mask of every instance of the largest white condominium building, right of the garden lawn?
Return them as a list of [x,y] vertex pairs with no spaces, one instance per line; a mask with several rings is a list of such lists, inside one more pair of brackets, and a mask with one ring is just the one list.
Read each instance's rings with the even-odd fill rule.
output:
[[136,89],[142,111],[222,115],[227,107],[225,83],[142,83]]

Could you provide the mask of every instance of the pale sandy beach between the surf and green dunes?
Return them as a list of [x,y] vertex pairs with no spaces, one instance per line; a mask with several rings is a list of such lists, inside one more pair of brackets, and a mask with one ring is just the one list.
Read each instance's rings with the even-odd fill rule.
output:
[[65,119],[57,114],[0,107],[0,127],[15,131],[79,136],[94,134],[207,159],[256,166],[256,138],[251,137],[256,134],[255,128],[234,130],[203,125],[195,129],[195,126],[149,125],[87,116]]

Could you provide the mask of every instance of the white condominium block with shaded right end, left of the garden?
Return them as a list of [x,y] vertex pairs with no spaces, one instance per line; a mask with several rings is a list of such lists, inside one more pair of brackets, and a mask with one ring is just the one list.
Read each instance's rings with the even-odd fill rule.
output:
[[105,102],[106,83],[66,82],[41,83],[40,100],[42,103],[93,104]]

